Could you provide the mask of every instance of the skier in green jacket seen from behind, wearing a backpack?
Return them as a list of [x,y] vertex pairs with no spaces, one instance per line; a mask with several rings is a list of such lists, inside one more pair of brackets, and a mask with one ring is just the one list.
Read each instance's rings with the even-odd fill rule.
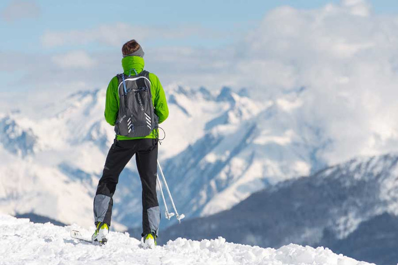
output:
[[[157,123],[163,122],[168,117],[169,109],[158,77],[143,70],[144,51],[142,47],[135,40],[130,40],[123,45],[121,50],[123,73],[113,77],[106,90],[105,120],[115,126],[116,137],[106,157],[102,177],[94,198],[96,231],[92,236],[92,241],[97,241],[100,244],[106,242],[112,213],[112,196],[121,171],[135,155],[142,184],[143,231],[141,244],[144,248],[154,248],[160,223],[160,210],[156,195]],[[147,89],[147,87],[150,88]],[[147,104],[150,105],[149,109],[146,108],[146,100],[151,101]],[[138,111],[142,110],[145,115],[140,117],[138,114],[134,114],[134,110],[138,114],[140,113]],[[151,118],[150,112],[154,113],[152,114],[154,118]],[[144,124],[141,127],[139,126],[140,119],[144,120],[143,123],[141,122]],[[145,133],[144,129],[148,131]],[[142,134],[142,132],[144,133]],[[131,137],[135,135],[140,136]]]

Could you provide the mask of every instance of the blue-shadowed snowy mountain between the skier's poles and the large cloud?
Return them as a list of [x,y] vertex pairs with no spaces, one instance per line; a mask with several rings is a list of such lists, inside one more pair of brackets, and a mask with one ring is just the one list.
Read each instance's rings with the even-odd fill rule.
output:
[[193,217],[226,210],[269,184],[325,165],[318,152],[330,140],[294,114],[301,92],[253,101],[221,90],[216,101],[230,107],[205,124],[203,137],[165,162],[183,212]]

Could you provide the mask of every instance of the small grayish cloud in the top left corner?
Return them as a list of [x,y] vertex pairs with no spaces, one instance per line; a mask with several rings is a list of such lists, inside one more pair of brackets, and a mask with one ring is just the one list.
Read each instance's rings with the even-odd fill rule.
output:
[[40,15],[40,7],[35,1],[12,0],[1,11],[1,17],[7,22],[23,18],[36,18]]

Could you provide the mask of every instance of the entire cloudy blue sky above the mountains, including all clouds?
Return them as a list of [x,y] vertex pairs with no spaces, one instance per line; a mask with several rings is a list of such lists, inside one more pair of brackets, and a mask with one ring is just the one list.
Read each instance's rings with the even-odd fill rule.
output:
[[293,114],[333,139],[331,163],[398,150],[396,0],[4,0],[0,30],[0,112],[106,89],[135,38],[166,92],[299,96]]

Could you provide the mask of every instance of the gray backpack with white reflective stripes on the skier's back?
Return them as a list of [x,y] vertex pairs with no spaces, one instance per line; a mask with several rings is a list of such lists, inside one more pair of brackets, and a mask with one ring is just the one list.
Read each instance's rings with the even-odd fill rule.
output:
[[136,76],[117,75],[119,86],[119,112],[115,133],[128,137],[149,135],[158,127],[159,118],[154,112],[149,72]]

